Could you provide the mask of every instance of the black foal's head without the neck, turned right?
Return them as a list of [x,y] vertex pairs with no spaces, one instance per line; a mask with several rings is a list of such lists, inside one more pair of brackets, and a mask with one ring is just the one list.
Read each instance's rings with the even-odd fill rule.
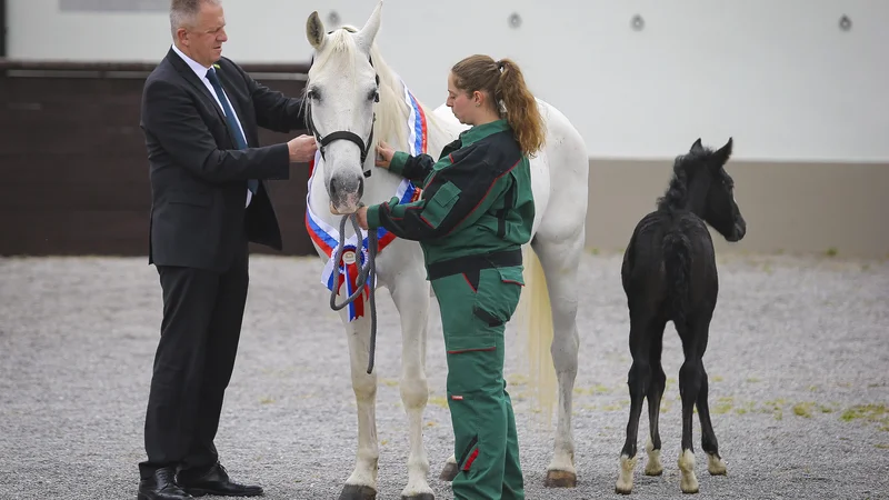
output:
[[701,217],[708,224],[719,231],[727,241],[740,241],[747,233],[747,222],[741,216],[741,209],[735,201],[735,181],[726,171],[726,163],[731,157],[732,141],[713,151],[701,146],[698,139],[691,144],[687,158],[693,159],[696,186],[706,187],[706,193],[692,193],[692,196],[703,196],[702,203],[693,203],[700,207]]

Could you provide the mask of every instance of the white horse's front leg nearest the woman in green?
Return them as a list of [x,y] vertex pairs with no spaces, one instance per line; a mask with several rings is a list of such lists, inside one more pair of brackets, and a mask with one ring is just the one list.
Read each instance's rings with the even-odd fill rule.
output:
[[402,500],[432,500],[427,482],[429,458],[423,446],[423,412],[429,400],[426,378],[426,336],[429,318],[429,284],[422,268],[403,271],[390,287],[392,300],[401,318],[401,402],[408,416],[410,452],[408,484]]

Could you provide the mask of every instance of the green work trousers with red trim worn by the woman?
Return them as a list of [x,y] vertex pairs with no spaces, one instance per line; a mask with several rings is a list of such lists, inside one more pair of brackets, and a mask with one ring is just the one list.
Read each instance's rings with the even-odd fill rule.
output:
[[503,330],[521,293],[521,267],[432,281],[448,351],[448,406],[458,473],[455,499],[525,499]]

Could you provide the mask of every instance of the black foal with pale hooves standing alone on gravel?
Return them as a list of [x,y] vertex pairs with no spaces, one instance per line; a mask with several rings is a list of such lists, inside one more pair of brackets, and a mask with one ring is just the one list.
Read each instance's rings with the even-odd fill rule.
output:
[[660,434],[658,413],[667,377],[660,363],[663,328],[672,321],[680,339],[685,362],[679,370],[682,398],[682,452],[679,456],[680,487],[698,492],[695,452],[691,446],[691,413],[695,404],[701,422],[701,448],[711,474],[725,474],[726,464],[717,449],[707,404],[707,349],[710,319],[719,289],[713,242],[707,224],[728,241],[739,241],[747,231],[732,194],[733,182],[725,164],[731,156],[731,139],[717,151],[698,139],[688,154],[678,157],[673,177],[658,209],[643,217],[633,230],[623,254],[621,280],[630,313],[630,419],[620,456],[616,490],[632,490],[636,440],[642,399],[648,399],[650,436],[646,444],[646,474],[659,476]]

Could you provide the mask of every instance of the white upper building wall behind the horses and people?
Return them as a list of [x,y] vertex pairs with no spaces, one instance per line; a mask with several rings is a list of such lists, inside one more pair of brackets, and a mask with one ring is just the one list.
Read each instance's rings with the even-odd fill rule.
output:
[[[170,43],[164,11],[7,1],[11,58],[158,61]],[[226,0],[226,56],[308,61],[312,10],[361,26],[374,3]],[[721,144],[732,136],[738,159],[889,161],[886,0],[386,0],[378,42],[431,106],[443,102],[460,58],[513,58],[592,157],[671,158],[698,137]]]

